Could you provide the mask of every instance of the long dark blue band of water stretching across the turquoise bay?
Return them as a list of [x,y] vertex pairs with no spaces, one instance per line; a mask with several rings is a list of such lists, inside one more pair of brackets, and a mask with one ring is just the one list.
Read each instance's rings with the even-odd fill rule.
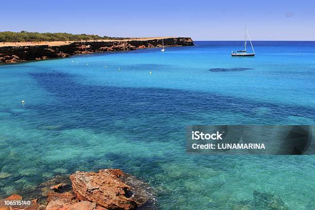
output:
[[[62,121],[63,129],[76,128],[78,121],[80,121],[80,127],[97,130],[100,127],[106,128],[117,120],[139,118],[139,121],[151,123],[147,120],[149,117],[167,114],[169,118],[184,119],[187,114],[191,117],[200,112],[242,113],[248,118],[261,118],[260,121],[264,124],[274,124],[292,114],[315,117],[315,109],[309,107],[286,106],[195,91],[83,85],[75,82],[72,75],[60,72],[30,75],[46,91],[59,98],[54,106],[43,104],[40,108],[36,106],[30,106],[30,108],[37,110],[43,118],[47,117],[47,120],[53,120],[56,124]],[[266,111],[258,116],[258,108],[264,108]],[[54,118],[50,117],[50,113],[55,113]],[[198,116],[196,115],[195,118],[197,120]],[[156,118],[156,120],[162,122],[164,119]],[[218,118],[216,122],[225,120]],[[241,119],[238,122],[241,123]],[[164,124],[174,130],[179,129],[168,124],[167,121]],[[133,127],[132,124],[126,124],[119,129],[132,130]],[[143,133],[146,129],[146,127],[140,127],[137,131]],[[156,127],[155,129],[164,128]]]

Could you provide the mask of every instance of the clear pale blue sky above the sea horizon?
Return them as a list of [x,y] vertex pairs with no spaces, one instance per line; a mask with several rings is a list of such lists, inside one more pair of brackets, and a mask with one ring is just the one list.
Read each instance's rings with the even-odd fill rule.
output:
[[315,40],[315,0],[2,1],[0,31],[111,37]]

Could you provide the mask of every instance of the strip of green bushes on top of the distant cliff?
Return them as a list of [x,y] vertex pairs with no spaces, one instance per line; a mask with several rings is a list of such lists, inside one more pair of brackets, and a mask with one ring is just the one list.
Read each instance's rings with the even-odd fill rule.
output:
[[100,37],[94,34],[71,34],[71,33],[38,33],[38,32],[0,32],[0,42],[40,42],[40,41],[81,41],[81,40],[121,40],[126,38]]

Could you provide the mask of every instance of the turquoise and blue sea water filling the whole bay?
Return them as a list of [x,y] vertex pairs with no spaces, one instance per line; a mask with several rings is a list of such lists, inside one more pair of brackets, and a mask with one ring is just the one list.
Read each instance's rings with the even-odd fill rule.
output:
[[313,156],[186,154],[185,128],[314,125],[315,43],[254,42],[254,58],[230,57],[241,42],[196,44],[1,65],[0,197],[113,167],[150,183],[161,209],[229,209],[254,190],[314,208]]

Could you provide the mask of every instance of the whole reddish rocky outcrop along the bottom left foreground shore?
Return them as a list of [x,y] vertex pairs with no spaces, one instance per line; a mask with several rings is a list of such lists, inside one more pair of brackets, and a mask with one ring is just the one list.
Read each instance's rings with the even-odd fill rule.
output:
[[0,210],[129,210],[155,206],[150,187],[119,169],[103,169],[98,173],[76,171],[70,180],[57,176],[40,184],[36,192],[29,192],[28,198],[23,198],[32,200],[30,206],[3,205],[5,200],[22,200],[19,195],[0,199]]

